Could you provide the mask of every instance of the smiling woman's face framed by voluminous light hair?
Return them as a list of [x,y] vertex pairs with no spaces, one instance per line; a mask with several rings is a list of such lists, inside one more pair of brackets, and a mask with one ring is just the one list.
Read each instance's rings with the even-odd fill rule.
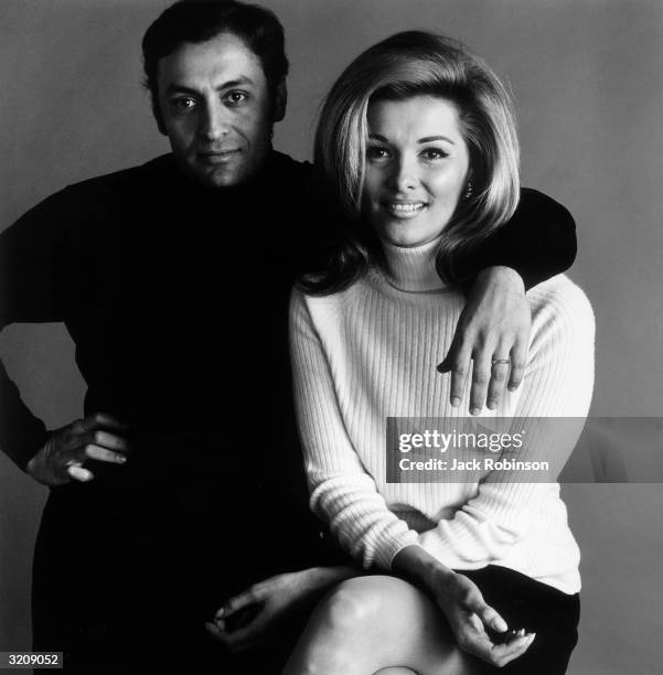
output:
[[456,106],[435,96],[378,100],[367,121],[365,217],[383,242],[431,242],[467,185],[469,152]]

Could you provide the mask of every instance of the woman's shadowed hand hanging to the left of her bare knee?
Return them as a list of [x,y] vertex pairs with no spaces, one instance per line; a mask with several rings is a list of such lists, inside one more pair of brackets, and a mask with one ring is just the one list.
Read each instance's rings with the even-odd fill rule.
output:
[[330,586],[359,574],[351,567],[312,567],[270,577],[231,598],[205,628],[232,652],[250,650],[296,611],[312,610]]

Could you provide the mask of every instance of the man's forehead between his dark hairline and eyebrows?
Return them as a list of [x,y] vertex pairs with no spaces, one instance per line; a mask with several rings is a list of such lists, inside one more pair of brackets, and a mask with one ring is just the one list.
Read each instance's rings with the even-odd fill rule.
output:
[[159,79],[162,86],[221,85],[239,79],[258,86],[266,78],[260,60],[244,40],[234,33],[222,33],[206,42],[184,42],[160,58]]

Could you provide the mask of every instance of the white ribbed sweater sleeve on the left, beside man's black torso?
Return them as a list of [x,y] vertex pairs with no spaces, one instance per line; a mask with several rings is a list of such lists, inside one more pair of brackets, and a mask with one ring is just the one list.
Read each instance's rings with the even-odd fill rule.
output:
[[290,344],[310,506],[365,568],[388,569],[398,550],[417,543],[417,533],[389,511],[347,436],[328,358],[297,290],[290,302]]

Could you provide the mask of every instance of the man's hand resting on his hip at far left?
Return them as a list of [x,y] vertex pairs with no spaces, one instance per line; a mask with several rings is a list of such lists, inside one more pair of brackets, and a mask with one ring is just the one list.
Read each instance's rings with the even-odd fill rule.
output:
[[129,447],[117,433],[127,426],[105,413],[88,415],[55,429],[46,444],[28,462],[28,473],[44,485],[63,485],[94,478],[84,464],[89,460],[124,464]]

